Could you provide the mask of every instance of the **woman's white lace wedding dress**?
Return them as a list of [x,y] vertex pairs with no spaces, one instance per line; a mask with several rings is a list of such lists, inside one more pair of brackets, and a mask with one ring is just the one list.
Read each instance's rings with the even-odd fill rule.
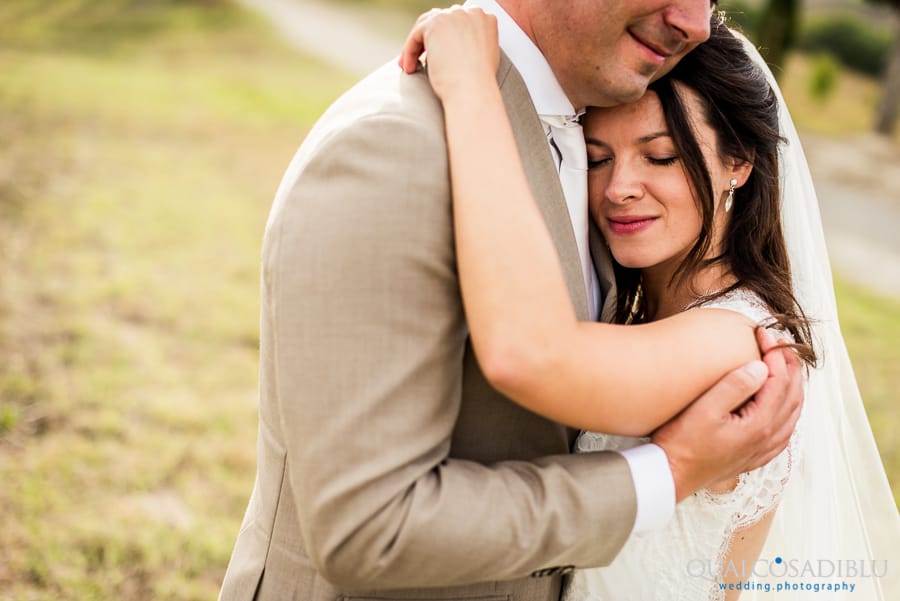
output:
[[[746,290],[736,290],[703,307],[730,309],[756,323],[771,316],[762,301]],[[565,589],[564,601],[723,599],[724,591],[716,575],[723,573],[732,533],[757,522],[778,504],[792,463],[798,457],[799,431],[798,426],[789,447],[770,463],[741,474],[734,490],[694,493],[678,504],[674,517],[664,528],[633,534],[609,566],[575,571]],[[583,432],[576,450],[620,450],[644,442],[647,439]],[[733,574],[727,562],[724,567],[725,574]],[[739,565],[737,569],[741,569]]]

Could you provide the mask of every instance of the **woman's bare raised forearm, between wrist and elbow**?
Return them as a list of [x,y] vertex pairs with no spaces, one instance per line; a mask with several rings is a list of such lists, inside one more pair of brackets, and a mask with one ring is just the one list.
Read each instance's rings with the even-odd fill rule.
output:
[[444,99],[457,260],[476,355],[502,385],[551,371],[576,318],[500,91],[473,88]]

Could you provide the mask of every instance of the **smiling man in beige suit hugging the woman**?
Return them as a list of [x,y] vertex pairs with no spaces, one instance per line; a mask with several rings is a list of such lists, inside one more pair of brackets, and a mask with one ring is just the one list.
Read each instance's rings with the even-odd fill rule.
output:
[[[595,318],[609,259],[584,252],[586,207],[564,196],[539,115],[636,99],[706,39],[710,4],[469,4],[497,15],[519,151],[579,318]],[[493,390],[467,337],[442,112],[421,72],[383,67],[310,132],[262,272],[258,472],[223,601],[555,601],[563,574],[774,456],[796,420],[799,367],[779,351],[767,380],[734,372],[659,444],[622,454],[570,454],[574,430]]]

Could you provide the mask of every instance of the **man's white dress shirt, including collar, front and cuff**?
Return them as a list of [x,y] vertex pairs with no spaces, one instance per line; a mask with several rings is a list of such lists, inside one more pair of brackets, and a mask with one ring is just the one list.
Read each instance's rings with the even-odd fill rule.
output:
[[[534,108],[538,115],[542,116],[545,134],[549,136],[548,122],[552,122],[554,117],[576,116],[583,112],[572,106],[547,59],[500,5],[494,0],[468,0],[466,6],[477,6],[497,17],[500,48],[525,81]],[[586,149],[584,153],[587,154]],[[554,152],[553,156],[558,169],[560,156],[557,152]],[[566,186],[563,187],[564,190],[565,188]],[[600,285],[587,250],[589,219],[587,199],[566,198],[566,204],[571,222],[574,224],[575,240],[585,274],[590,315],[592,319],[597,319],[600,313]],[[623,399],[623,402],[625,401],[626,399]],[[675,511],[675,482],[665,452],[651,443],[621,451],[621,454],[628,462],[637,495],[637,515],[632,532],[662,527]]]

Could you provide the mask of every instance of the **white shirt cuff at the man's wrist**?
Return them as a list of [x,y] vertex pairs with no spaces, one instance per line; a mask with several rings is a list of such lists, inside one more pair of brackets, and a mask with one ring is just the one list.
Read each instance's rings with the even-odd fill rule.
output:
[[620,453],[631,469],[637,496],[632,534],[662,528],[675,513],[675,479],[666,452],[649,443]]

